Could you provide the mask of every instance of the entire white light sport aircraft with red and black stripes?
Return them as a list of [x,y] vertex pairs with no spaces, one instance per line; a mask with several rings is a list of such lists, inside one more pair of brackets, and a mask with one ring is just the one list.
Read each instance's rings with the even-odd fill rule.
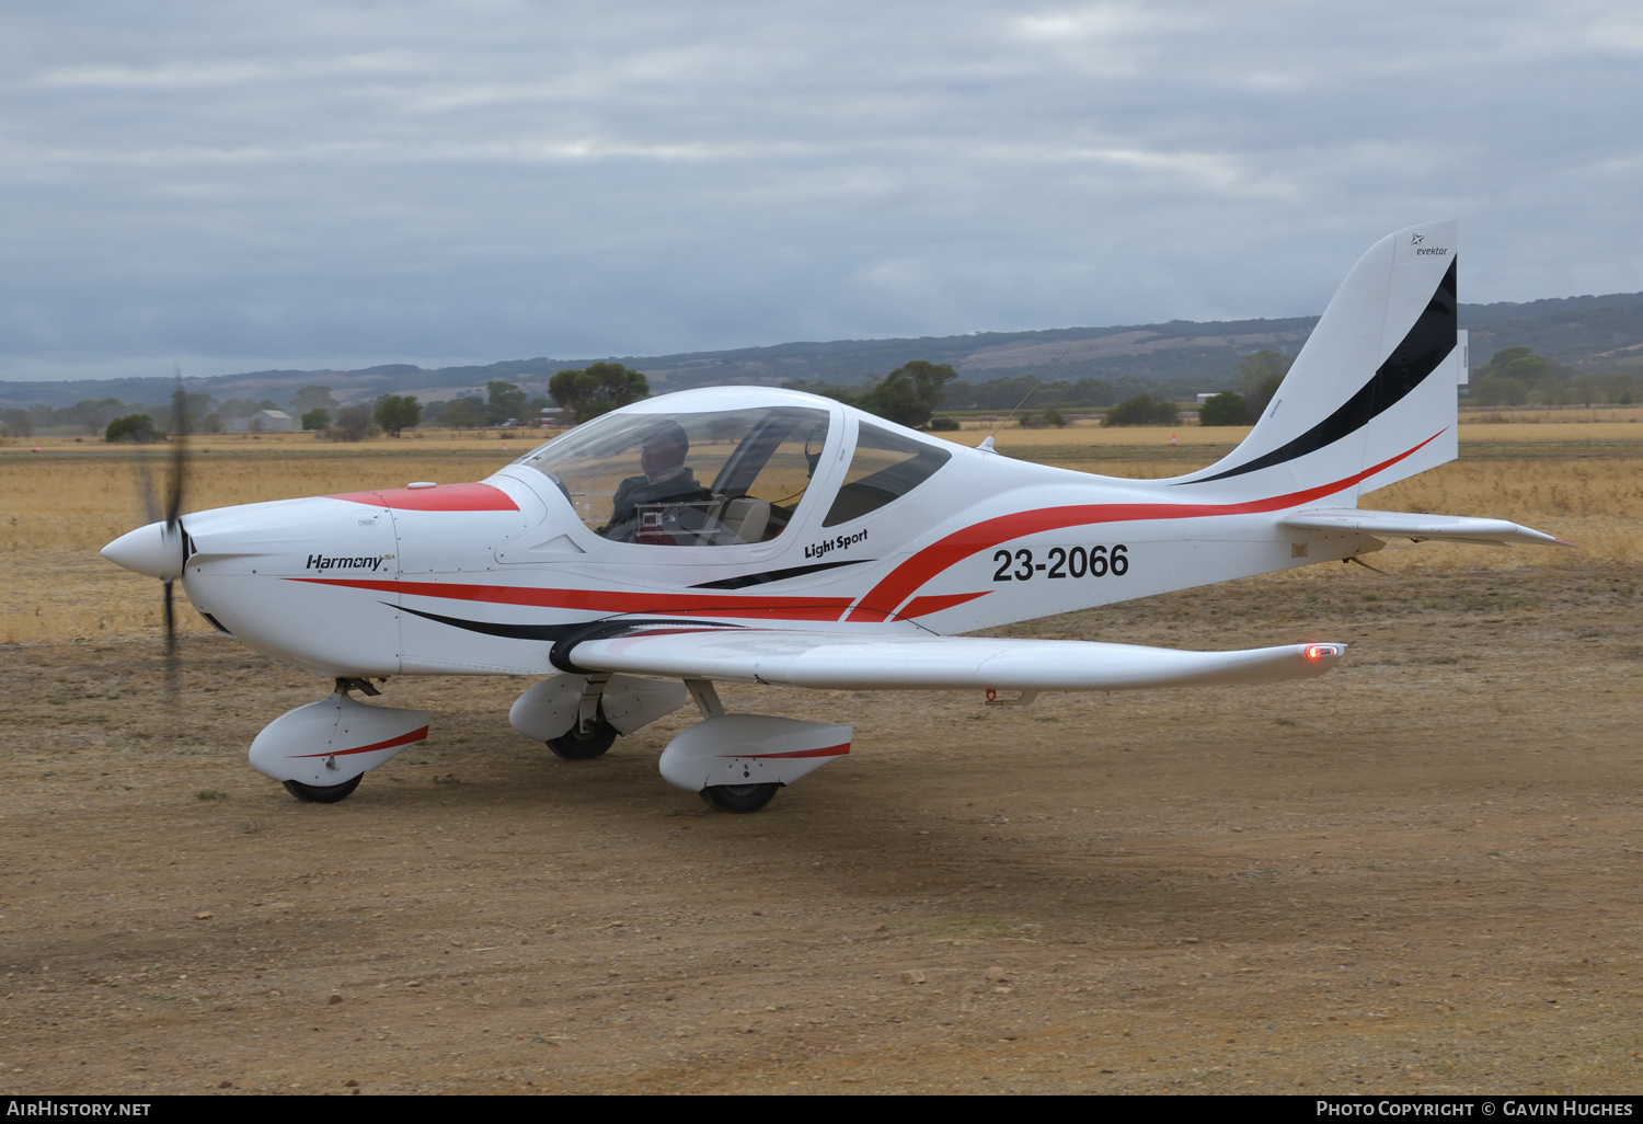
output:
[[[251,764],[302,800],[427,736],[368,705],[389,675],[545,675],[521,735],[593,758],[685,705],[662,776],[754,812],[849,751],[851,728],[725,713],[715,682],[1124,690],[1308,679],[1316,643],[1190,652],[974,629],[1351,559],[1383,537],[1559,542],[1498,519],[1359,511],[1456,457],[1456,227],[1377,243],[1347,274],[1254,432],[1171,480],[1116,480],[964,449],[849,406],[759,388],[605,414],[483,483],[412,483],[177,516],[110,542],[181,578],[243,644],[335,677],[271,721]],[[169,616],[168,616],[169,620]]]

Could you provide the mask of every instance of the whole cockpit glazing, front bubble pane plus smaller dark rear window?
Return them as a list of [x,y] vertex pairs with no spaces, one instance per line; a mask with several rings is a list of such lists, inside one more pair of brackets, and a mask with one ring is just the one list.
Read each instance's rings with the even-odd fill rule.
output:
[[[595,417],[514,463],[544,473],[588,529],[616,542],[767,542],[787,529],[822,472],[838,409],[784,398],[782,404],[669,412],[647,403],[651,409]],[[823,527],[894,503],[951,457],[943,442],[866,419],[856,431],[849,468],[830,485]]]

